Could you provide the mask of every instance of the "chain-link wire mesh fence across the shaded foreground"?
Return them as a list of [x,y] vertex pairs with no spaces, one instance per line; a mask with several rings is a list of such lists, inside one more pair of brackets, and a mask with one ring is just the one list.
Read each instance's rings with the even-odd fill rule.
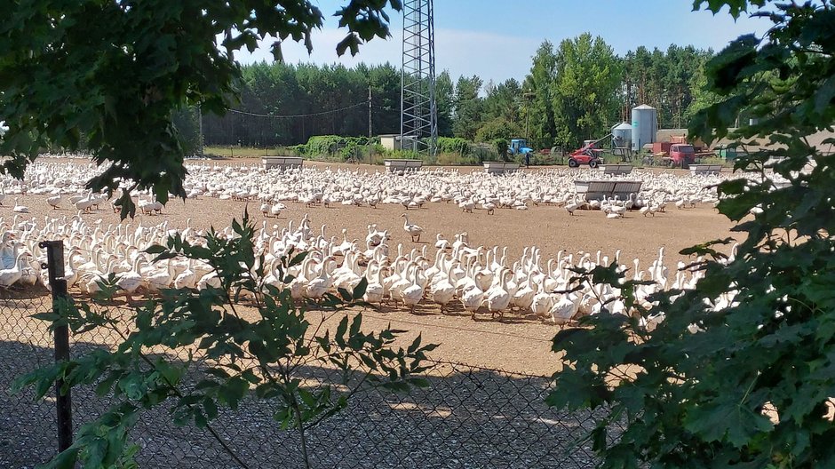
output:
[[[83,299],[81,299],[83,301]],[[0,467],[34,467],[57,452],[54,399],[10,394],[12,380],[53,360],[52,335],[31,314],[50,311],[45,290],[0,299]],[[71,337],[71,354],[112,347],[101,330]],[[171,358],[171,356],[170,356]],[[593,467],[587,444],[577,444],[594,417],[545,405],[550,379],[455,362],[433,362],[430,386],[408,394],[371,388],[347,409],[307,433],[313,467]],[[309,380],[339,382],[338,370],[308,367]],[[196,382],[200,372],[189,377]],[[98,417],[112,403],[92,386],[73,388],[73,424]],[[54,395],[52,392],[49,395]],[[212,423],[246,467],[303,467],[298,433],[282,431],[268,401],[221,410]],[[144,411],[131,434],[139,467],[238,467],[206,430],[172,423],[167,408]]]

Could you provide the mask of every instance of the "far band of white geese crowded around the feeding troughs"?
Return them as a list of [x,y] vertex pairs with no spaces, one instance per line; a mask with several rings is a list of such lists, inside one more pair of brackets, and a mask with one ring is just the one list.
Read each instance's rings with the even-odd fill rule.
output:
[[[48,161],[48,160],[47,160]],[[185,182],[188,198],[217,197],[221,200],[260,201],[266,216],[278,216],[286,203],[325,206],[357,205],[375,208],[380,204],[400,204],[404,210],[431,203],[457,203],[462,211],[483,210],[492,215],[497,209],[527,210],[531,205],[550,204],[574,214],[578,210],[599,210],[608,218],[621,218],[636,210],[648,216],[675,205],[686,209],[696,203],[716,203],[713,187],[729,173],[720,175],[680,175],[635,170],[625,177],[643,182],[640,193],[622,200],[585,201],[577,195],[577,179],[613,179],[599,171],[552,169],[516,172],[501,177],[479,171],[425,170],[397,175],[382,171],[322,170],[318,168],[265,170],[252,163],[188,163]],[[55,208],[91,211],[107,204],[107,197],[83,189],[84,183],[99,171],[91,163],[35,163],[22,180],[4,179],[0,197],[16,194],[48,195],[46,203]],[[624,179],[624,178],[618,178]],[[139,191],[140,212],[163,210],[161,204]],[[0,202],[3,202],[0,199]],[[17,203],[15,203],[17,205]],[[22,207],[22,212],[28,208]]]

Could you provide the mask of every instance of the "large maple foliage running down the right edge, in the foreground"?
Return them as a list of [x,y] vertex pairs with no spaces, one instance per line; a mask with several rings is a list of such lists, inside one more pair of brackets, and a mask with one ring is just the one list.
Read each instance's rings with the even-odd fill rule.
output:
[[[732,240],[683,250],[707,258],[696,263],[704,278],[695,290],[656,294],[648,309],[615,266],[579,272],[615,285],[630,314],[590,316],[557,334],[566,367],[549,403],[607,410],[587,435],[605,468],[833,467],[835,155],[806,137],[835,125],[835,7],[695,4],[705,3],[758,6],[774,22],[762,40],[741,36],[710,61],[719,101],[690,126],[706,141],[766,144],[735,162],[761,180],[718,187],[720,212],[744,239],[729,259],[720,247]],[[759,123],[730,131],[743,112]],[[770,179],[772,156],[784,157],[768,164],[788,187]],[[654,330],[645,326],[660,314]]]

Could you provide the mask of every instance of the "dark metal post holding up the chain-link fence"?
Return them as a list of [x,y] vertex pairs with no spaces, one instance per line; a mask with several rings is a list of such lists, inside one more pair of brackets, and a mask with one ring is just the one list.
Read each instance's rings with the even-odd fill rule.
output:
[[[67,298],[67,281],[64,279],[64,242],[44,241],[38,243],[46,250],[46,264],[49,269],[50,290],[52,290],[52,312],[58,313],[59,302]],[[55,328],[55,362],[69,360],[69,327],[64,324]],[[73,444],[73,404],[70,390],[61,394],[64,385],[59,378],[55,382],[55,402],[58,410],[58,450],[68,449]]]

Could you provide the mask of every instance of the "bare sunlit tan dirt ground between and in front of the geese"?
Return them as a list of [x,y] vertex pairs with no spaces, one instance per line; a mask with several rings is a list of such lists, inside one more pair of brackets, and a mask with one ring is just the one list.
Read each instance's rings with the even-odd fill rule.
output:
[[[246,162],[235,160],[233,163]],[[382,170],[373,166],[359,168]],[[42,221],[44,217],[71,217],[76,214],[69,209],[52,210],[45,199],[46,195],[19,196],[19,203],[27,205],[30,210],[28,215],[21,216]],[[9,201],[0,207],[0,217],[14,215],[12,204]],[[601,250],[609,258],[615,255],[616,250],[621,250],[622,263],[631,266],[632,259],[639,258],[641,268],[646,268],[658,257],[659,248],[664,246],[665,263],[671,269],[678,260],[687,260],[680,256],[679,250],[732,235],[729,232],[732,224],[704,204],[688,210],[672,207],[672,210],[658,213],[654,218],[632,212],[624,219],[607,219],[600,211],[577,211],[572,217],[567,211],[553,206],[533,206],[528,211],[497,210],[495,215],[490,216],[483,210],[462,213],[452,203],[427,203],[423,209],[409,211],[410,222],[425,229],[420,242],[413,243],[402,229],[401,215],[406,211],[400,205],[381,204],[377,209],[341,205],[306,208],[300,203],[287,205],[288,209],[282,212],[281,218],[265,219],[258,210],[258,202],[220,201],[215,198],[188,200],[185,203],[175,200],[168,203],[162,215],[137,215],[135,220],[128,222],[149,225],[167,221],[169,227],[185,227],[187,219],[191,219],[192,227],[221,228],[227,227],[233,217],[240,218],[243,211],[249,209],[251,218],[258,224],[266,221],[286,227],[290,220],[298,224],[308,214],[312,220],[311,227],[318,231],[319,227],[326,225],[329,237],[340,236],[341,229],[346,228],[349,240],[355,238],[364,242],[367,226],[373,223],[379,229],[390,231],[393,248],[398,243],[403,244],[404,250],[413,247],[421,249],[428,245],[430,254],[434,252],[436,234],[444,235],[451,241],[455,234],[467,232],[471,245],[507,247],[512,262],[521,256],[526,246],[538,246],[542,248],[544,259],[555,258],[559,250],[569,253],[583,250],[592,254]],[[82,217],[91,221],[100,218],[105,227],[119,223],[118,214],[106,207],[102,209],[82,214]],[[433,358],[438,360],[544,375],[553,373],[560,364],[550,352],[550,340],[558,330],[552,324],[519,318],[507,322],[489,321],[489,316],[483,322],[473,321],[463,314],[441,315],[429,306],[419,312],[368,311],[365,313],[365,324],[378,329],[392,322],[397,329],[410,330],[409,338],[421,332],[425,341],[441,344],[433,352]]]

